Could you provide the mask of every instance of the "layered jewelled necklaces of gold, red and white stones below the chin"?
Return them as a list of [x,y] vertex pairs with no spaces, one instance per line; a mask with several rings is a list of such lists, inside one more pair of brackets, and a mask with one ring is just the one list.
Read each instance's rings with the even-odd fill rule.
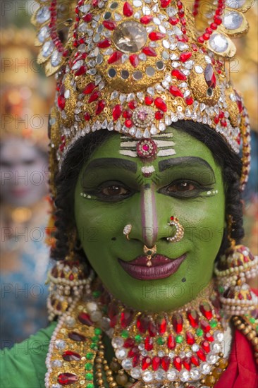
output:
[[[107,337],[115,356],[110,364]],[[46,387],[213,387],[228,364],[223,340],[215,291],[170,313],[145,314],[97,286],[59,319]]]

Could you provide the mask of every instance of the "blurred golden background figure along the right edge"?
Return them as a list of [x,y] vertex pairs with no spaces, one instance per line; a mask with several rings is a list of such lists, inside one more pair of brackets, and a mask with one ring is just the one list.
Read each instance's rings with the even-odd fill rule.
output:
[[[232,59],[229,71],[235,88],[241,90],[242,96],[250,115],[252,162],[247,187],[245,188],[245,240],[254,255],[258,255],[258,109],[257,109],[257,64],[258,64],[258,2],[252,10],[248,11],[247,20],[250,31],[243,39],[234,41],[237,46],[238,59]],[[258,287],[257,279],[252,281],[252,286]]]

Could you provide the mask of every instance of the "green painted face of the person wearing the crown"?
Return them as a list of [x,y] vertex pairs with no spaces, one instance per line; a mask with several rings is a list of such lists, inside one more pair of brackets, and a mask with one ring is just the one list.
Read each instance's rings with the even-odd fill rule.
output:
[[[168,131],[176,154],[153,162],[121,154],[121,135],[111,136],[92,153],[75,188],[75,221],[92,267],[113,296],[154,312],[185,305],[209,283],[225,220],[221,169],[211,151],[186,133]],[[152,166],[151,176],[144,176],[143,166]],[[167,240],[174,234],[171,216],[185,229],[176,243]],[[123,235],[127,224],[129,241]],[[144,245],[155,244],[159,260],[179,258],[176,272],[165,271],[163,279],[156,269],[154,279],[128,274],[120,260],[126,265],[145,255]]]

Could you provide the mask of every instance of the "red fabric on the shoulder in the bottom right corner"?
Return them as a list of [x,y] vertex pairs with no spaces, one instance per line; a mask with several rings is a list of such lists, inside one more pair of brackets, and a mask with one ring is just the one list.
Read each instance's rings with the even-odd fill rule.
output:
[[258,370],[254,360],[254,350],[250,341],[235,330],[235,339],[228,368],[214,385],[214,388],[257,388]]

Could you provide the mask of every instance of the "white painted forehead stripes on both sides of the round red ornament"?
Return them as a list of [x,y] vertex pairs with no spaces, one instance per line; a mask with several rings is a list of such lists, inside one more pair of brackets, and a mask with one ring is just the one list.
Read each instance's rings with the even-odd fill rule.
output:
[[[175,143],[171,140],[172,133],[162,133],[162,135],[154,136],[152,139],[155,141],[158,147],[159,157],[167,157],[176,154],[173,146]],[[136,146],[138,141],[129,138],[128,136],[121,136],[120,151],[119,153],[124,156],[137,157]]]

